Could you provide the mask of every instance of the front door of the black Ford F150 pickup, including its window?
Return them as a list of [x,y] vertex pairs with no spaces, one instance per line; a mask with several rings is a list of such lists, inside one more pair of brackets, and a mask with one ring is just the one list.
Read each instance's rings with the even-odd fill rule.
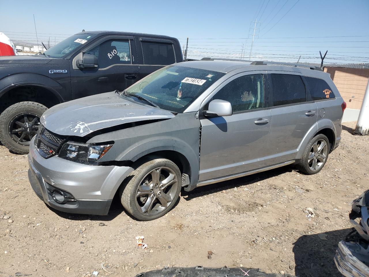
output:
[[99,66],[98,69],[73,69],[71,65],[73,99],[115,89],[124,90],[138,81],[133,37],[107,37],[83,52],[95,55]]

